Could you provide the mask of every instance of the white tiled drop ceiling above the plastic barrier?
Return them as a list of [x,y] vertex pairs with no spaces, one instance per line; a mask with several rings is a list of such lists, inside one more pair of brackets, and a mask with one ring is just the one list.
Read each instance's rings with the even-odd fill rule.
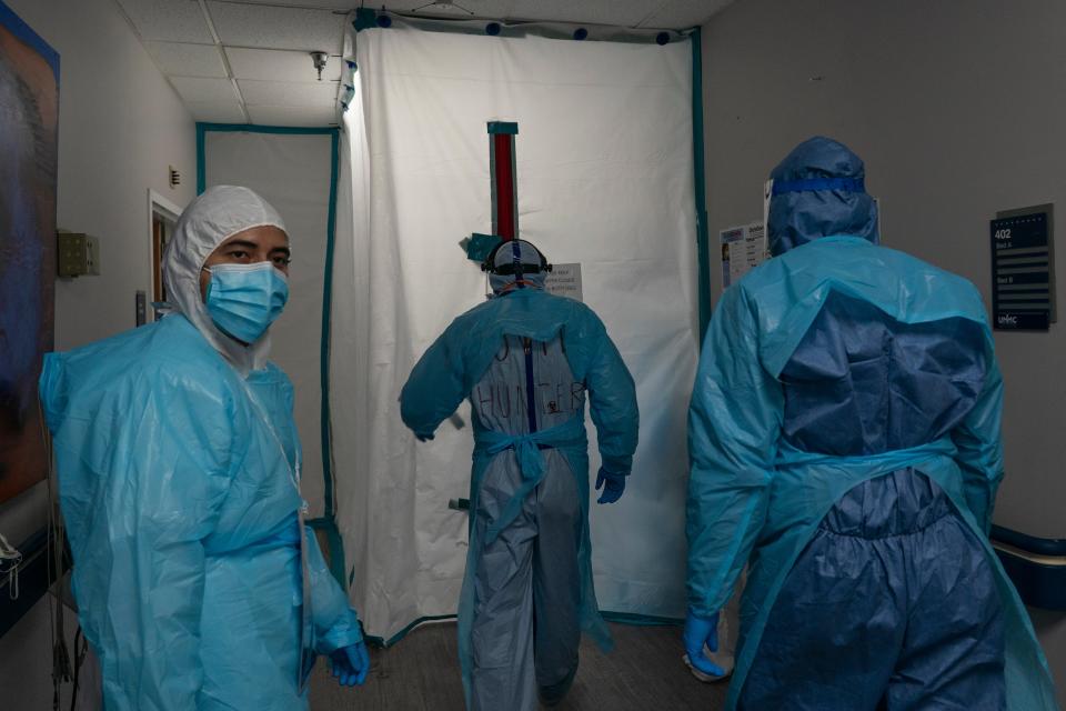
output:
[[[475,16],[503,20],[685,28],[705,23],[733,0],[455,0]],[[345,11],[362,0],[115,0],[198,120],[264,118],[308,126],[335,122]],[[382,2],[382,0],[378,0]],[[378,4],[378,2],[373,4]],[[425,0],[384,0],[411,12]],[[207,10],[207,17],[204,14]],[[425,14],[464,17],[461,12]],[[211,26],[220,43],[212,36]],[[322,82],[311,51],[330,54]],[[227,86],[228,84],[228,86]],[[245,93],[251,94],[244,96]],[[326,106],[329,103],[329,106]],[[328,111],[329,113],[328,113]],[[247,118],[245,118],[247,117]]]

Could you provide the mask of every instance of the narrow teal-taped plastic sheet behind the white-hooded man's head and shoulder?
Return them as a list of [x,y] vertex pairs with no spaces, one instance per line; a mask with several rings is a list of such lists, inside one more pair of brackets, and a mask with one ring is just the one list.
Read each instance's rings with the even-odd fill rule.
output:
[[289,229],[292,264],[289,303],[271,327],[270,360],[292,379],[303,447],[303,498],[309,518],[323,513],[320,356],[322,283],[330,210],[331,137],[292,132],[207,131],[207,187],[244,186],[281,213]]

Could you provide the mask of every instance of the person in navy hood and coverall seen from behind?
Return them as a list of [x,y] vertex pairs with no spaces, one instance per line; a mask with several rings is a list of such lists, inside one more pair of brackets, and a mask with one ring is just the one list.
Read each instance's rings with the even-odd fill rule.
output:
[[987,531],[1003,382],[966,280],[879,247],[862,160],[774,169],[773,259],[723,294],[688,417],[686,661],[748,565],[730,709],[1056,709]]

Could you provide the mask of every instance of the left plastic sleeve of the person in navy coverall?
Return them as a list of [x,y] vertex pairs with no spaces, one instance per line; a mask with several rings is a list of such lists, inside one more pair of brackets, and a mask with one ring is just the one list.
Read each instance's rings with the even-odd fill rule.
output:
[[688,411],[688,604],[711,617],[730,599],[766,517],[784,410],[762,367],[754,308],[725,292],[711,321]]

